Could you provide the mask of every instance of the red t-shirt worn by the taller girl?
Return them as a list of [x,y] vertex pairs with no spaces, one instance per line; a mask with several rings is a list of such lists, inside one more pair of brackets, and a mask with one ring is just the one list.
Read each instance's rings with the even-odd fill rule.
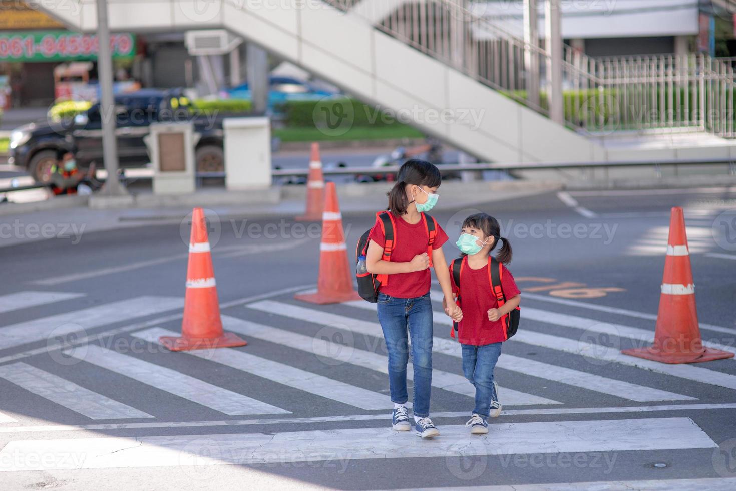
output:
[[[423,220],[411,225],[400,216],[394,215],[394,223],[396,224],[394,227],[395,246],[391,253],[392,262],[408,263],[414,259],[415,255],[427,252],[429,237]],[[386,236],[381,230],[378,219],[376,219],[368,238],[383,248]],[[437,235],[434,238],[432,248],[439,249],[445,242],[447,242],[447,234],[437,224]],[[429,268],[411,273],[396,273],[395,275],[389,275],[389,284],[381,285],[378,291],[397,298],[421,297],[429,292],[430,280]]]

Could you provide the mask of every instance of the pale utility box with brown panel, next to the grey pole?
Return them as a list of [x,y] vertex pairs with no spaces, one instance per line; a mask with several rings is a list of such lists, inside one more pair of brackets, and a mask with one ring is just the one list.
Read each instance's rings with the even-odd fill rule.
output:
[[154,194],[194,193],[194,144],[191,123],[151,125],[146,145],[154,169]]

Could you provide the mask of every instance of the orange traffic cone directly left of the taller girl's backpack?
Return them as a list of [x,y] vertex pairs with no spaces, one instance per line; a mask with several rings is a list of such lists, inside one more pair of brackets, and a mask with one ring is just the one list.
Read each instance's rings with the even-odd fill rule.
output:
[[337,202],[335,183],[327,184],[325,213],[322,216],[322,244],[319,244],[319,279],[316,293],[297,294],[294,298],[311,303],[340,303],[360,300],[353,288],[353,269],[347,260],[342,231],[342,214]]

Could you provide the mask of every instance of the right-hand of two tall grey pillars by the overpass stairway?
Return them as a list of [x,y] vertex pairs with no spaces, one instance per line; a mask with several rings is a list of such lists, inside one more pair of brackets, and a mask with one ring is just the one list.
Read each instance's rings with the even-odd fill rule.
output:
[[562,12],[560,0],[545,0],[545,43],[547,47],[547,93],[550,119],[562,124]]

